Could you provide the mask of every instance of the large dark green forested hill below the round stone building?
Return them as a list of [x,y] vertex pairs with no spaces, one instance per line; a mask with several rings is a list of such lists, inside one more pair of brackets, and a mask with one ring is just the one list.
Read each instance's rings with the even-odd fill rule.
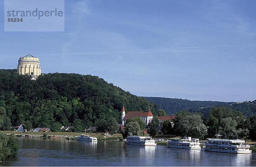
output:
[[82,130],[102,122],[120,122],[123,104],[126,111],[145,111],[148,106],[153,113],[157,110],[145,98],[97,76],[50,73],[32,81],[27,75],[17,75],[15,69],[0,69],[2,129],[25,124],[27,129],[75,125]]

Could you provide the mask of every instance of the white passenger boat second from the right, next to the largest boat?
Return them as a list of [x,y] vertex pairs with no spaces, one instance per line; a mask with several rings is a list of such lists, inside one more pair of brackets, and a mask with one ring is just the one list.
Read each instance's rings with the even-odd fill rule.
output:
[[184,137],[175,138],[167,142],[168,147],[172,148],[183,148],[183,149],[201,149],[198,138]]

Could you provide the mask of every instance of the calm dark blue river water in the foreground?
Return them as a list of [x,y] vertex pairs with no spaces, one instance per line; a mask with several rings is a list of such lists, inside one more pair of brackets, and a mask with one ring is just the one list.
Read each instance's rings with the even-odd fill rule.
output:
[[17,138],[18,157],[0,166],[256,166],[256,153],[230,154],[166,146],[141,147],[122,141]]

